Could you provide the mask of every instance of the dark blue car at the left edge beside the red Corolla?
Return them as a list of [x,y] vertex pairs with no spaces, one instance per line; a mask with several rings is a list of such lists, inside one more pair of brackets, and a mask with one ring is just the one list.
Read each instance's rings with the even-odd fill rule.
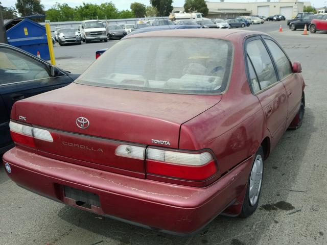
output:
[[0,155],[14,146],[9,133],[13,104],[66,86],[77,77],[17,47],[0,43]]

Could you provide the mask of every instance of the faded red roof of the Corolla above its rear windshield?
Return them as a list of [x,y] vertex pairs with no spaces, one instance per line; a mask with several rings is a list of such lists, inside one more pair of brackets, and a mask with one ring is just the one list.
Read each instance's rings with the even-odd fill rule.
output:
[[137,37],[197,37],[197,38],[214,38],[224,40],[243,40],[251,35],[266,35],[263,32],[243,31],[235,29],[174,29],[174,30],[158,30],[155,32],[137,33],[125,38]]

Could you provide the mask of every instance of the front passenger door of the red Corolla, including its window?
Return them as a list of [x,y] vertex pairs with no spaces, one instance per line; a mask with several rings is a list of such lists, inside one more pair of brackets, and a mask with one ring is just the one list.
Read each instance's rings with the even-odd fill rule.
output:
[[286,56],[282,48],[273,39],[270,39],[269,37],[264,37],[264,40],[276,64],[278,80],[284,84],[284,87],[287,92],[288,127],[300,108],[302,98],[302,83],[300,83],[298,74],[293,73],[291,61]]

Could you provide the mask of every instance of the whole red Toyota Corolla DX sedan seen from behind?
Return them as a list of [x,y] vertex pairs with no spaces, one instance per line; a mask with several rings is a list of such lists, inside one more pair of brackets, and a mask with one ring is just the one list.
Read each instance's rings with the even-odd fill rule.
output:
[[50,199],[174,234],[258,207],[265,159],[301,126],[299,63],[260,32],[118,42],[73,84],[16,102],[4,164]]

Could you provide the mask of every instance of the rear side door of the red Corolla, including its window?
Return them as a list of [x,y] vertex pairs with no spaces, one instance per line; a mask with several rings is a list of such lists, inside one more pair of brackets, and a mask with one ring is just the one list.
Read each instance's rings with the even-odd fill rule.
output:
[[286,129],[286,90],[278,81],[274,63],[261,37],[247,39],[245,48],[249,81],[263,108],[273,148]]

